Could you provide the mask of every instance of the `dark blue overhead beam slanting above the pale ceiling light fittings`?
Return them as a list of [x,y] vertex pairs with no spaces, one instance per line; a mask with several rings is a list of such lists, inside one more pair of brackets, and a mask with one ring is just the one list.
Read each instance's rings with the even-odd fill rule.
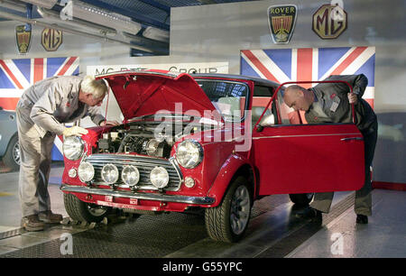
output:
[[153,26],[165,31],[170,31],[170,25],[166,23],[161,23],[159,21],[153,20],[150,17],[147,17],[143,14],[134,12],[134,11],[129,11],[127,9],[115,6],[115,5],[110,5],[107,3],[104,3],[99,0],[80,0],[81,2],[87,3],[88,5],[96,5],[99,8],[106,9],[110,12],[116,13],[116,14],[123,14],[125,16],[130,17],[134,21],[138,23],[143,23],[144,25],[148,26]]

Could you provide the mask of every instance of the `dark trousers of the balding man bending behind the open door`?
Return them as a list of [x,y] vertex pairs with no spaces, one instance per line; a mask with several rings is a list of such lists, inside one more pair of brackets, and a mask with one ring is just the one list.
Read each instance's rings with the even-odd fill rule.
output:
[[[378,125],[375,122],[373,127],[364,135],[364,160],[365,160],[365,180],[363,188],[355,191],[355,214],[371,216],[372,215],[372,183],[370,166],[374,160],[375,145],[377,140]],[[316,193],[310,207],[318,209],[323,213],[330,211],[334,192]]]

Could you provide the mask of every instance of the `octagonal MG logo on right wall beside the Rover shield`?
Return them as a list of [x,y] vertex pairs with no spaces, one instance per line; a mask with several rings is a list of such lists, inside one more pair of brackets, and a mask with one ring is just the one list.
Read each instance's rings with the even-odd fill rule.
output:
[[347,15],[340,5],[322,5],[313,14],[312,30],[323,40],[336,39],[346,31]]

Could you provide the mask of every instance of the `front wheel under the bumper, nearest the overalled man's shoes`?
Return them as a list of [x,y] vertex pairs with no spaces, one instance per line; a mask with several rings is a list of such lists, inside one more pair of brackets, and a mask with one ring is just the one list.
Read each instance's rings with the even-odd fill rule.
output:
[[83,202],[72,194],[63,194],[63,202],[70,218],[81,222],[100,222],[107,216],[110,209],[109,207]]

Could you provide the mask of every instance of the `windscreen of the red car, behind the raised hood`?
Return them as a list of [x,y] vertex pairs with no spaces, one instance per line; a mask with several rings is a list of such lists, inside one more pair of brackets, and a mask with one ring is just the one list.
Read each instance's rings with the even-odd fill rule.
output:
[[196,79],[196,81],[226,121],[241,121],[249,91],[245,83],[217,79]]

